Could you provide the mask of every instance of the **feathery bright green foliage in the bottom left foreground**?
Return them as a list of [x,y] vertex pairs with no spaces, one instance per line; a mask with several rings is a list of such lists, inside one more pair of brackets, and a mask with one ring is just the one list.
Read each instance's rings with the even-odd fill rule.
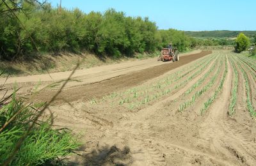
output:
[[[17,142],[28,131],[31,123],[35,122],[38,111],[35,110],[36,105],[34,107],[26,106],[14,94],[10,103],[0,102],[0,165],[3,165],[12,154]],[[11,121],[12,117],[14,119]],[[8,121],[10,123],[7,123]],[[25,137],[10,165],[41,165],[58,157],[67,156],[78,147],[77,141],[70,132],[53,130],[50,128],[50,122],[36,121],[36,123]],[[2,128],[4,124],[7,125]]]

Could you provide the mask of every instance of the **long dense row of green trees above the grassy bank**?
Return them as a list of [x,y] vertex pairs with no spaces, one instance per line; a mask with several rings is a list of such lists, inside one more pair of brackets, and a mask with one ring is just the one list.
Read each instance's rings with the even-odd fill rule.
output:
[[6,6],[0,4],[0,59],[63,50],[120,57],[154,52],[170,41],[181,51],[194,45],[193,38],[183,31],[158,31],[156,23],[147,17],[126,17],[113,9],[86,14],[78,9],[52,8],[49,3],[20,2],[22,10],[8,14],[3,12]]

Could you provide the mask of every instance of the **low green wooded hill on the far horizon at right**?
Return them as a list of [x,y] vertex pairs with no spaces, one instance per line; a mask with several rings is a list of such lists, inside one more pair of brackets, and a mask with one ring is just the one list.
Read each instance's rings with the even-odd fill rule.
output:
[[239,33],[252,37],[256,34],[256,31],[185,31],[185,34],[198,38],[235,38]]

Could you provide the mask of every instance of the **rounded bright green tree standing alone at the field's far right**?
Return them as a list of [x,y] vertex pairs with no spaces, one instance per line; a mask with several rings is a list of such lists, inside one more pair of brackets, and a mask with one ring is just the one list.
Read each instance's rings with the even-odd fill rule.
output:
[[250,46],[250,39],[245,36],[243,33],[238,34],[235,41],[235,50],[236,52],[242,52]]

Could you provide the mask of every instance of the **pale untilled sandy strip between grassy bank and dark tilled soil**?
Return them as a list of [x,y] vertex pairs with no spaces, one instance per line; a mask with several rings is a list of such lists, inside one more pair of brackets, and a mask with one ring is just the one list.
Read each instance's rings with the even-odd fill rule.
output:
[[[180,57],[190,56],[191,54],[198,54],[200,52],[200,50],[194,50],[190,53],[180,54]],[[151,58],[140,61],[127,61],[124,63],[76,70],[65,88],[81,86],[84,84],[94,84],[95,82],[113,79],[121,75],[127,75],[132,72],[138,72],[140,70],[145,70],[147,68],[168,63],[172,62],[157,62],[156,58]],[[0,77],[0,85],[4,84],[6,89],[9,89],[11,93],[13,90],[13,84],[15,84],[15,86],[20,87],[20,94],[33,93],[35,88],[36,91],[44,89],[45,87],[47,89],[58,90],[71,73],[72,71],[67,71],[21,77],[9,77],[7,80],[6,78]]]

